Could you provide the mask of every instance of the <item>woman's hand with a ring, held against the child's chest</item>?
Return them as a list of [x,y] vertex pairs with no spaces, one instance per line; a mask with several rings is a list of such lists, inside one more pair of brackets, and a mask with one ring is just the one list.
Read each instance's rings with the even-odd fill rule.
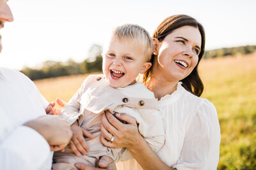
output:
[[[124,120],[127,124],[123,124],[109,111],[106,111],[102,115],[102,124],[100,125],[102,136],[100,137],[100,141],[104,146],[109,148],[129,149],[136,145],[138,139],[141,138],[136,120],[125,113],[116,113],[115,116],[120,120]],[[114,136],[114,140],[111,142],[110,139],[112,136]]]

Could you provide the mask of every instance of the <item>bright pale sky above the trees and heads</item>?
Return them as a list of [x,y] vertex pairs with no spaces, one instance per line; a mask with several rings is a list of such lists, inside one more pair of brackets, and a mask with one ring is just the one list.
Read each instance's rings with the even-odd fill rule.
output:
[[22,69],[45,60],[81,62],[116,25],[150,32],[164,18],[186,14],[204,25],[206,50],[256,45],[255,0],[10,0],[14,21],[0,30],[0,67]]

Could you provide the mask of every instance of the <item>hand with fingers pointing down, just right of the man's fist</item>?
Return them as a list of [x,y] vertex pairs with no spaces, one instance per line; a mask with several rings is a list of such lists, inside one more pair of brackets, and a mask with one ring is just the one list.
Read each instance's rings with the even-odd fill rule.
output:
[[86,144],[84,136],[88,138],[95,138],[90,132],[84,130],[82,127],[79,127],[77,121],[71,125],[71,131],[73,132],[73,136],[69,142],[69,146],[71,150],[79,157],[81,153],[86,155],[89,152],[89,148]]

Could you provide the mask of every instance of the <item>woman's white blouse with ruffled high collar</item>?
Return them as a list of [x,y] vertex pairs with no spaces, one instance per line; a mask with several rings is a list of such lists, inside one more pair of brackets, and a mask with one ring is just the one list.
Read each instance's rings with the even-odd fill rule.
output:
[[[220,124],[214,105],[182,87],[159,101],[166,142],[157,152],[176,169],[216,169],[220,153]],[[142,169],[136,160],[118,162],[118,170]]]

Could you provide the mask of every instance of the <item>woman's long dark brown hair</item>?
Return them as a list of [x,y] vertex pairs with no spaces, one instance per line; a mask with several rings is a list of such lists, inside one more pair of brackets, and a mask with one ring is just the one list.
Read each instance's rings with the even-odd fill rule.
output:
[[[198,63],[196,64],[193,71],[186,78],[180,81],[182,81],[182,86],[186,90],[188,90],[192,94],[195,94],[196,96],[201,96],[204,90],[204,85],[198,74],[198,64],[204,55],[204,48],[205,48],[204,27],[200,23],[198,23],[194,18],[189,17],[188,15],[173,15],[163,20],[163,22],[157,27],[152,38],[156,38],[158,39],[159,42],[161,42],[173,30],[178,29],[179,27],[187,26],[187,25],[198,28],[201,34],[202,44],[201,44],[201,52],[198,55]],[[152,66],[154,64],[154,57],[156,57],[156,55],[152,54],[152,57],[150,60],[150,62],[152,62]],[[150,69],[148,69],[144,73],[143,82],[147,82],[150,76],[152,76],[152,67],[150,67]]]

